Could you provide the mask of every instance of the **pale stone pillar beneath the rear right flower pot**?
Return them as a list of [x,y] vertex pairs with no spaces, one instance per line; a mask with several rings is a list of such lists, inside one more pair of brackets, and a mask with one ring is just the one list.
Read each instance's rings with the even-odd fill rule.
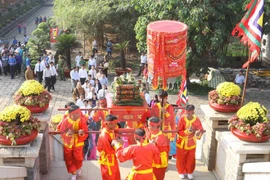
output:
[[201,105],[205,115],[205,138],[202,146],[202,161],[212,171],[215,167],[217,141],[216,131],[228,131],[228,120],[234,113],[220,113],[209,105]]

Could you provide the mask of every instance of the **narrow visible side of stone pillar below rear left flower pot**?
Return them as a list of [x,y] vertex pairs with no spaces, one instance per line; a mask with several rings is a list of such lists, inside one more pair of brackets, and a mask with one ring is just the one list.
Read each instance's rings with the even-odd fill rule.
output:
[[47,174],[50,167],[50,142],[48,132],[49,127],[47,122],[42,122],[40,133],[43,134],[43,140],[39,152],[40,172],[42,174]]

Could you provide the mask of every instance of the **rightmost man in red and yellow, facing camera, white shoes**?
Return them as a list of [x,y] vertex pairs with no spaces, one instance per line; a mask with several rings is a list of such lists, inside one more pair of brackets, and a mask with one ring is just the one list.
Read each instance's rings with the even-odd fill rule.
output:
[[201,121],[194,115],[195,107],[187,105],[186,115],[178,122],[178,137],[176,140],[176,167],[179,177],[193,179],[195,170],[196,139],[201,139],[204,133]]

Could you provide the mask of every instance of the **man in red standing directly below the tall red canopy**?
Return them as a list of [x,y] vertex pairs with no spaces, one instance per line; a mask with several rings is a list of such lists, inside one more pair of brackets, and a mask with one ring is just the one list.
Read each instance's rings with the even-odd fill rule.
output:
[[[159,102],[154,104],[152,108],[151,116],[156,116],[161,119],[161,130],[175,130],[174,109],[173,106],[167,102],[167,91],[160,91],[158,99]],[[171,141],[173,141],[175,135],[175,133],[165,134],[165,136],[167,136]]]

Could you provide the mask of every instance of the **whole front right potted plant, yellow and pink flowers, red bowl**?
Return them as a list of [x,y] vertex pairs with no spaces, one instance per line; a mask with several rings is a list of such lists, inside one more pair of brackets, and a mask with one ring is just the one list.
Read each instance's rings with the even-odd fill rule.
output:
[[229,129],[239,139],[249,142],[264,142],[270,138],[269,119],[266,108],[249,102],[229,120]]

